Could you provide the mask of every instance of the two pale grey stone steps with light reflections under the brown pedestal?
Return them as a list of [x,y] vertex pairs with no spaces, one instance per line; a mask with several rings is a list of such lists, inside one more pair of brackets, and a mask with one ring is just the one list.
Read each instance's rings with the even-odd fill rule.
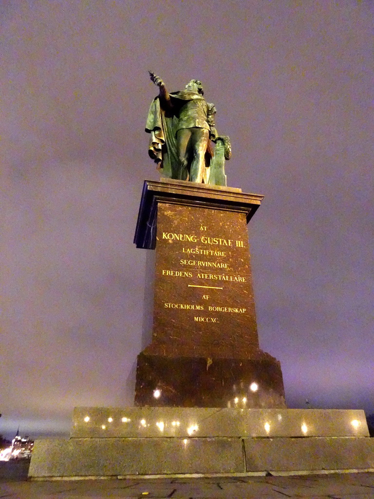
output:
[[29,478],[373,471],[364,411],[77,407],[69,440],[36,440]]

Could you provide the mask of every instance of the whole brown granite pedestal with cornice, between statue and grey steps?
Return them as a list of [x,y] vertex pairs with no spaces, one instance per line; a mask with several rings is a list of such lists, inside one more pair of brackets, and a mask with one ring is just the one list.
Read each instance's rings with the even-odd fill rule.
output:
[[[280,363],[258,344],[247,223],[262,196],[144,184],[135,243],[154,249],[152,341],[135,405],[285,407]],[[158,397],[155,397],[154,394]]]

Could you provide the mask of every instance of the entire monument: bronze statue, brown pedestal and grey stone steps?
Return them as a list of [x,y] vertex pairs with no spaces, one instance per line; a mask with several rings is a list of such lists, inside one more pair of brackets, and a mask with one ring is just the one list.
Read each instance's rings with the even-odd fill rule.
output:
[[135,407],[75,408],[70,439],[35,441],[29,477],[373,470],[364,411],[286,408],[280,364],[258,345],[246,224],[262,196],[226,187],[229,141],[201,83],[169,94],[151,79],[164,178],[145,182],[135,234],[156,253]]

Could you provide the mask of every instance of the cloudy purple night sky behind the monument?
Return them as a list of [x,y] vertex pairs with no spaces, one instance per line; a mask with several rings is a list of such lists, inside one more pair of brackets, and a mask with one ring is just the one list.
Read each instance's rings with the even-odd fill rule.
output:
[[[200,79],[289,407],[374,412],[370,1],[16,1],[1,17],[0,433],[133,404],[157,88]],[[371,275],[372,274],[372,275]]]

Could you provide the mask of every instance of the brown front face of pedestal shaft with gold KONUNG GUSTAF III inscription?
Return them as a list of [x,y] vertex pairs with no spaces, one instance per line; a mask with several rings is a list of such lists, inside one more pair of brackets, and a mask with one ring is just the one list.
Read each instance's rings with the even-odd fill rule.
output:
[[159,203],[154,307],[145,353],[250,358],[259,349],[244,214]]

